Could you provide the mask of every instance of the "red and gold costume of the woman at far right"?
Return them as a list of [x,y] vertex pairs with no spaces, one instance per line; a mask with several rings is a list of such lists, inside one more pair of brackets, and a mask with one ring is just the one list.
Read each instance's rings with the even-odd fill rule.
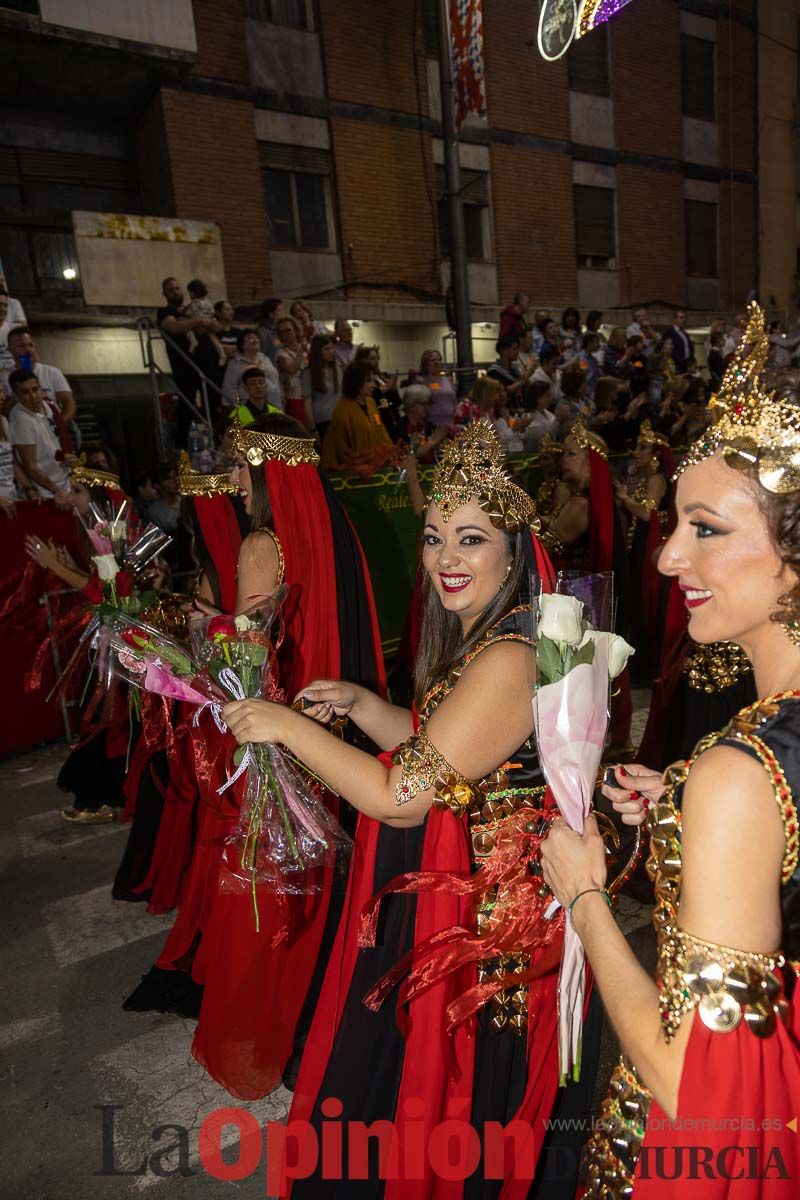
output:
[[[784,830],[781,948],[753,954],[700,941],[678,924],[680,796],[693,762],[714,745],[759,762]],[[742,709],[666,775],[649,812],[658,1006],[670,1040],[691,1021],[670,1122],[620,1060],[587,1146],[587,1195],[634,1200],[794,1198],[800,1180],[800,694]],[[724,803],[724,794],[718,802]],[[699,1165],[698,1165],[699,1164]]]

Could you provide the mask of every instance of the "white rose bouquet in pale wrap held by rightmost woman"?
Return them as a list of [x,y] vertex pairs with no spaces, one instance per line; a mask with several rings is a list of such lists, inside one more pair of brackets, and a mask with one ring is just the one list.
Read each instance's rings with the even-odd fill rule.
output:
[[[559,577],[537,602],[534,692],[536,744],[545,779],[570,828],[583,833],[608,732],[609,683],[631,647],[613,625],[610,575]],[[551,906],[551,913],[558,905]],[[559,973],[561,1082],[581,1076],[585,955],[567,913]]]

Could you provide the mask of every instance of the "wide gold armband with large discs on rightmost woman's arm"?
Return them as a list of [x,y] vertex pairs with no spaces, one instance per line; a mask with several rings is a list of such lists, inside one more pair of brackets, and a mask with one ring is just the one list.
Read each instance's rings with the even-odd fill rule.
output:
[[787,1002],[775,973],[783,966],[781,955],[716,946],[678,926],[664,929],[660,949],[658,1008],[668,1042],[693,1008],[714,1033],[730,1033],[744,1019],[766,1038],[778,1019],[786,1020]]

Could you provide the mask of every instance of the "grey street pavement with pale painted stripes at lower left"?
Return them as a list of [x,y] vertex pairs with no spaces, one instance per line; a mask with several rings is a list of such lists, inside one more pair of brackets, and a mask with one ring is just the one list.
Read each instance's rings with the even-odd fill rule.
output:
[[[290,1094],[233,1100],[192,1058],[193,1022],[122,1010],[172,918],[112,899],[126,827],[61,821],[65,755],[60,743],[0,763],[0,1198],[263,1198],[263,1165],[228,1182],[203,1170],[198,1129],[229,1105],[282,1121]],[[649,908],[626,902],[620,919],[646,955]],[[607,1036],[604,1078],[614,1054]],[[236,1139],[227,1127],[225,1159]]]

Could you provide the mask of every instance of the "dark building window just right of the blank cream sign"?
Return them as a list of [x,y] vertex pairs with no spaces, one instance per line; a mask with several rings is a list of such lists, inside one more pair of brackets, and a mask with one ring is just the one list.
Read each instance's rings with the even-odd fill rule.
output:
[[261,142],[259,157],[272,246],[333,250],[329,151]]

